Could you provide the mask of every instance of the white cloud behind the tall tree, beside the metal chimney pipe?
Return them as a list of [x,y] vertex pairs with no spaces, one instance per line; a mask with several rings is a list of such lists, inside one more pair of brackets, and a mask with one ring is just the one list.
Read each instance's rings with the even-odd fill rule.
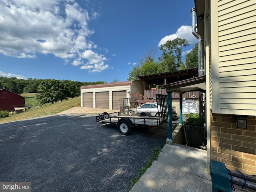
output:
[[180,28],[178,28],[175,34],[171,34],[162,38],[158,43],[158,46],[165,44],[168,40],[174,40],[176,38],[182,38],[182,39],[184,38],[188,40],[189,44],[194,44],[197,42],[196,37],[191,32],[191,26],[182,25]]

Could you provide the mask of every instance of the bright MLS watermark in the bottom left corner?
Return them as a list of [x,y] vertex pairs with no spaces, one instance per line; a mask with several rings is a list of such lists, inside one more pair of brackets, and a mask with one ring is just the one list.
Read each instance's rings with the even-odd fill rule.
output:
[[31,182],[0,182],[0,192],[31,192]]

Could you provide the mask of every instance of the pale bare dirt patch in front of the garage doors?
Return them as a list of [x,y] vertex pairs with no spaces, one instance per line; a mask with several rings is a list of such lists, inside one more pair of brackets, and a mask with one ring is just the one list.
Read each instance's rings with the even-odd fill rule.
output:
[[90,107],[73,107],[66,111],[62,111],[58,114],[102,114],[103,112],[114,113],[119,110],[109,110],[109,109],[99,109],[99,108],[90,108]]

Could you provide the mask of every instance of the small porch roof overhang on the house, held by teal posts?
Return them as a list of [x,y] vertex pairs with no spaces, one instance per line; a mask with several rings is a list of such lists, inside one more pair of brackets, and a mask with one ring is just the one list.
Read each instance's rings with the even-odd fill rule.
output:
[[205,76],[199,76],[191,79],[170,83],[163,86],[163,88],[166,89],[166,92],[175,92],[180,94],[183,94],[188,91],[205,92],[206,90],[205,79],[206,79]]

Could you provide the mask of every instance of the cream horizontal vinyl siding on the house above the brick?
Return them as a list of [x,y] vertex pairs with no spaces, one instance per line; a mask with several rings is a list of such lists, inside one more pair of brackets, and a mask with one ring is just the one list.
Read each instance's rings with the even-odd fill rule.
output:
[[218,1],[218,54],[213,112],[256,115],[256,0]]

